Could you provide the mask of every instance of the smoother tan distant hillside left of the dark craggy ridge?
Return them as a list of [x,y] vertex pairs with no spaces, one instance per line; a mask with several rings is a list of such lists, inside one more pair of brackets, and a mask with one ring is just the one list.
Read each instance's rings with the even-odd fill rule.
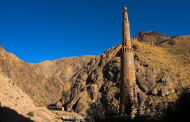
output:
[[[93,56],[61,58],[28,64],[0,47],[0,69],[26,92],[37,106],[47,106],[62,97],[69,79],[79,72]],[[64,84],[64,85],[63,85]]]

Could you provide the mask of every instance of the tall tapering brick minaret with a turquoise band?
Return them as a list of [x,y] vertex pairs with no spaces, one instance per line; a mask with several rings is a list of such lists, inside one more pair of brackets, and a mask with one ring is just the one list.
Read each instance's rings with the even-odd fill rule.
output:
[[[121,81],[120,81],[120,114],[124,112],[130,115],[131,119],[137,113],[137,94],[134,56],[131,48],[131,37],[127,8],[123,8],[122,23],[122,47],[121,47]],[[127,108],[126,108],[127,107]],[[126,111],[127,109],[127,111]]]

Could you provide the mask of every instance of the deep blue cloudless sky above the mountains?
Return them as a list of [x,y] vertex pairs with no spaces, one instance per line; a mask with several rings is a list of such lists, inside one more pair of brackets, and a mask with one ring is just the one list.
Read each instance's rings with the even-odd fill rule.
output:
[[139,31],[190,35],[190,0],[0,0],[0,45],[28,63],[100,55]]

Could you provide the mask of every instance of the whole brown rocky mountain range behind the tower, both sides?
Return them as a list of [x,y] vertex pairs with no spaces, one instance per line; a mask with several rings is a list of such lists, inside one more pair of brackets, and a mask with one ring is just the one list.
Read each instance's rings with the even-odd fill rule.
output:
[[[190,84],[190,36],[139,32],[132,41],[140,109],[147,114],[175,100]],[[151,42],[156,46],[151,46]],[[82,56],[28,64],[0,48],[2,73],[37,106],[55,104],[85,114],[95,101],[118,109],[121,45],[100,56]]]

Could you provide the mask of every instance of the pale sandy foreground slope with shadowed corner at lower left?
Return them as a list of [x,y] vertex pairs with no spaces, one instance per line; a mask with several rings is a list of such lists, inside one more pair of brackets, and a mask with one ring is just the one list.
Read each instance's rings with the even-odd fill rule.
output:
[[[1,122],[55,122],[56,114],[46,107],[36,107],[33,100],[10,78],[0,73],[0,121]],[[28,113],[33,113],[33,117]]]

